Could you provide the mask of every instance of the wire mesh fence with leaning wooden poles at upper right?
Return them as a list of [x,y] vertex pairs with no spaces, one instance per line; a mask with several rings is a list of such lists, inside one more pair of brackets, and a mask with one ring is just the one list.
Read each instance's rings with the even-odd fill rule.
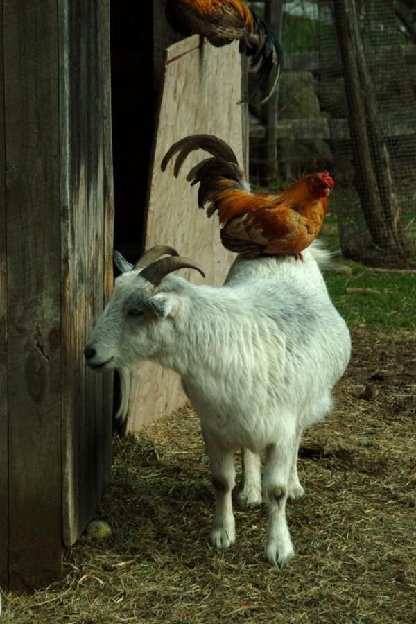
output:
[[416,259],[416,102],[395,3],[320,0],[318,8],[343,253],[405,266]]

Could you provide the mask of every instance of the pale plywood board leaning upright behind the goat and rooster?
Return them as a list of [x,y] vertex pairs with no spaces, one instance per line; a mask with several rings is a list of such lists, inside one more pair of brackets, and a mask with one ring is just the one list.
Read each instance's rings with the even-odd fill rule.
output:
[[[198,36],[170,46],[166,51],[164,83],[159,100],[157,130],[146,218],[145,245],[173,245],[184,256],[195,259],[207,273],[208,284],[221,284],[234,256],[220,244],[218,219],[207,219],[198,209],[197,189],[186,175],[202,152],[191,155],[175,180],[172,166],[162,173],[160,162],[178,139],[197,132],[227,141],[243,163],[243,109],[241,98],[241,57],[238,45],[222,49],[204,43]],[[183,270],[184,277],[200,283],[195,271]],[[184,403],[180,379],[153,363],[141,365],[132,379],[128,429],[171,413]]]

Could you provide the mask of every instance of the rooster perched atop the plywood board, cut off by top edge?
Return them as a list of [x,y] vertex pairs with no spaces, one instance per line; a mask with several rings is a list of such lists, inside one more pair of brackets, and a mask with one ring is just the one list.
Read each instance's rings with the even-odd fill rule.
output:
[[240,52],[251,58],[248,96],[250,101],[262,89],[275,67],[275,80],[261,103],[277,89],[283,54],[270,28],[240,0],[167,0],[166,17],[181,35],[203,35],[216,47],[239,40]]

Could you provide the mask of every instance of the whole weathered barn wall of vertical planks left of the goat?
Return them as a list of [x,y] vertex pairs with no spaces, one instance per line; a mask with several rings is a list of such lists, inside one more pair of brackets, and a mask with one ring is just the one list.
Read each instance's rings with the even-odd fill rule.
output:
[[[60,578],[110,472],[110,1],[0,0],[0,584]],[[4,130],[4,132],[3,132]]]

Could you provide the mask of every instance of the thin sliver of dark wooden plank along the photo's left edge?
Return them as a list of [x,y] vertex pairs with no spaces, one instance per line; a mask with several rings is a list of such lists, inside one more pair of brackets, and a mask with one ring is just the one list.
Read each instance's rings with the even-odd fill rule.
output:
[[[3,71],[3,0],[0,0],[0,73]],[[0,587],[8,586],[8,363],[6,137],[4,81],[0,79]]]

